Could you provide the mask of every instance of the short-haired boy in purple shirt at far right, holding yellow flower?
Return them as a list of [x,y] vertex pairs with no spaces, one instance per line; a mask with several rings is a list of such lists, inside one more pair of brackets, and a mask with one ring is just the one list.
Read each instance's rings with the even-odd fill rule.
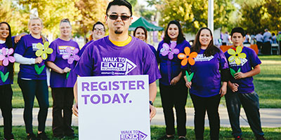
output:
[[[228,117],[235,139],[242,139],[239,117],[241,104],[247,116],[247,120],[254,132],[256,139],[262,140],[261,118],[259,113],[259,96],[254,91],[253,76],[261,71],[261,60],[251,48],[243,47],[245,39],[244,29],[235,27],[231,31],[231,41],[233,41],[233,51],[238,55],[230,55],[225,52],[230,71],[237,71],[228,81],[228,91],[226,94],[226,106]],[[231,52],[230,52],[231,53]],[[243,54],[244,53],[244,54]],[[243,56],[244,55],[244,56]],[[231,60],[231,57],[236,57]],[[240,61],[239,61],[240,60]]]

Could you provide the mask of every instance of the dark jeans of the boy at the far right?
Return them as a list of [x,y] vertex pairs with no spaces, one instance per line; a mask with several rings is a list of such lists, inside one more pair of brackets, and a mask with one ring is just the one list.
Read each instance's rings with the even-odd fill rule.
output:
[[231,128],[233,130],[233,136],[242,136],[239,121],[241,104],[246,113],[251,130],[254,132],[255,135],[263,136],[264,134],[261,130],[261,118],[259,114],[258,94],[256,94],[256,92],[232,92],[230,89],[228,89],[228,92],[226,94],[226,106],[228,108],[228,117],[230,120]]

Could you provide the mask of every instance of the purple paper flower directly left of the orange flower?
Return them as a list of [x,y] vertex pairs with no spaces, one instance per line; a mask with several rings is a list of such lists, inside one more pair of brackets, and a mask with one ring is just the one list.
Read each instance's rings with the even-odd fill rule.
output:
[[160,50],[160,53],[163,56],[168,55],[169,59],[174,58],[174,54],[178,54],[180,50],[176,48],[176,42],[172,42],[171,45],[168,45],[167,43],[163,43],[163,48]]

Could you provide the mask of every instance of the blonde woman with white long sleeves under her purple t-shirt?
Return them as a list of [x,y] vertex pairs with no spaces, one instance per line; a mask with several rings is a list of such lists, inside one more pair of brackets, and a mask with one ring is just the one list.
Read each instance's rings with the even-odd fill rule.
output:
[[37,43],[44,44],[46,42],[46,38],[41,35],[43,22],[40,18],[31,18],[28,28],[31,34],[20,39],[14,54],[15,61],[20,63],[18,84],[25,100],[25,111],[23,113],[25,130],[27,132],[27,139],[36,139],[32,130],[32,108],[34,97],[36,96],[40,108],[37,139],[48,139],[44,132],[49,105],[46,66],[44,59],[35,55],[35,52],[39,50]]

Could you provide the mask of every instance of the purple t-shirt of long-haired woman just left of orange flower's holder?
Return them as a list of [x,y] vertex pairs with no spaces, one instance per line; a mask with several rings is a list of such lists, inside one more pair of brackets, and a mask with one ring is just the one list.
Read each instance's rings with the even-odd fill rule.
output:
[[[173,59],[169,59],[168,55],[163,56],[161,54],[164,41],[161,41],[158,45],[157,52],[159,56],[160,73],[162,78],[159,82],[163,85],[170,85],[171,80],[181,73],[181,59],[178,59],[178,54],[174,54]],[[169,44],[170,45],[170,44]],[[183,41],[176,45],[175,48],[179,50],[178,53],[184,53],[184,48],[190,47],[188,41]]]

